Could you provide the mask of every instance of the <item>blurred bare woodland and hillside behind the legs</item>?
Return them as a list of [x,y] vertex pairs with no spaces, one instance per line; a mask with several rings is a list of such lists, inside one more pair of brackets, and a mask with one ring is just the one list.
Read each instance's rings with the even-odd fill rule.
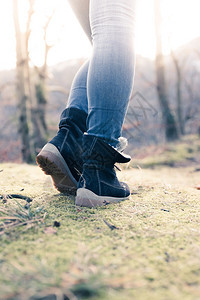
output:
[[[175,4],[176,1],[191,2],[192,5],[192,1],[168,3]],[[51,5],[46,10],[40,10],[39,2]],[[172,47],[170,35],[163,30],[163,24],[170,22],[170,14],[164,14],[167,1],[151,2],[155,53],[152,57],[145,57],[137,52],[134,90],[123,127],[130,154],[134,153],[135,148],[173,142],[185,135],[200,135],[200,37],[191,35],[191,39],[179,47]],[[48,36],[59,19],[57,10],[63,3],[56,0],[26,0],[23,27],[20,19],[20,5],[23,3],[12,1],[10,24],[16,38],[16,68],[0,70],[0,162],[34,162],[36,154],[55,135],[73,77],[87,59],[84,54],[55,64],[48,63],[57,42],[56,39],[49,41]],[[180,11],[176,13],[181,12],[180,6]],[[72,14],[71,11],[69,13]],[[148,26],[145,13],[144,27]],[[185,22],[192,19],[191,15],[185,17]],[[55,35],[59,36],[62,26],[65,26],[62,22],[60,27],[55,27]],[[37,31],[35,23],[38,23]],[[180,33],[184,35],[182,30],[180,26]],[[83,32],[80,34],[84,35]],[[40,64],[34,62],[31,53],[31,43],[36,43],[37,35],[38,38],[42,36],[40,41],[43,45]],[[73,38],[76,42],[72,47],[81,48],[79,37],[74,34]],[[143,47],[151,48],[149,39],[146,40]],[[89,49],[89,42],[86,43]],[[166,43],[167,53],[163,50]]]

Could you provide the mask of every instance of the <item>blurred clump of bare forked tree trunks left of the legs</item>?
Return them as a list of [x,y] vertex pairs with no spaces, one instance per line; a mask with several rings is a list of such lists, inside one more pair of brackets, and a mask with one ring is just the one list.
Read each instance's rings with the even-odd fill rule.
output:
[[47,104],[46,79],[47,57],[51,46],[47,43],[47,30],[55,11],[48,17],[43,28],[44,64],[41,68],[31,67],[29,41],[32,17],[35,13],[34,5],[35,0],[29,0],[26,30],[25,33],[22,33],[19,26],[18,0],[13,0],[17,52],[17,93],[20,103],[19,132],[22,137],[22,155],[25,162],[32,162],[32,157],[34,158],[48,138],[45,118]]

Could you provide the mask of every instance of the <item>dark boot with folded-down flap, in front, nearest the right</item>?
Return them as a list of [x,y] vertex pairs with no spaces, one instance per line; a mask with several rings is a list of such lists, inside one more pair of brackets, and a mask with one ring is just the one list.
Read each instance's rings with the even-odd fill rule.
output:
[[103,206],[129,197],[129,187],[119,182],[114,165],[116,162],[129,162],[130,156],[122,154],[101,138],[84,134],[82,158],[83,174],[78,183],[76,205]]

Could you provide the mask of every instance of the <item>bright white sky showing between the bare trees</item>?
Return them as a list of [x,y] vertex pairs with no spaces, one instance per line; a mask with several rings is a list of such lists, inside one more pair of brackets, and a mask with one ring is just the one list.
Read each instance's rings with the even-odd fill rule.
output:
[[[163,52],[173,49],[200,36],[199,0],[161,0],[163,16]],[[23,30],[27,21],[28,0],[19,0],[20,25]],[[79,26],[67,0],[36,0],[32,21],[30,56],[40,66],[43,57],[42,26],[46,17],[54,11],[48,28],[48,41],[53,45],[48,65],[67,59],[88,57],[91,46]],[[12,0],[0,0],[0,69],[15,67],[15,33]],[[154,8],[153,0],[139,0],[136,14],[136,52],[154,58]]]

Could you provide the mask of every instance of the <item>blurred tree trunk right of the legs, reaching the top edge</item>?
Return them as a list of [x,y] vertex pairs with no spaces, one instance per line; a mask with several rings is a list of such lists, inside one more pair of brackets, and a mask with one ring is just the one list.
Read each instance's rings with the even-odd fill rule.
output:
[[170,110],[167,100],[167,88],[165,81],[164,58],[162,54],[162,37],[161,37],[161,12],[160,0],[155,0],[155,33],[156,33],[156,80],[159,104],[162,111],[162,118],[165,125],[165,136],[167,141],[178,139],[178,131],[175,118]]

